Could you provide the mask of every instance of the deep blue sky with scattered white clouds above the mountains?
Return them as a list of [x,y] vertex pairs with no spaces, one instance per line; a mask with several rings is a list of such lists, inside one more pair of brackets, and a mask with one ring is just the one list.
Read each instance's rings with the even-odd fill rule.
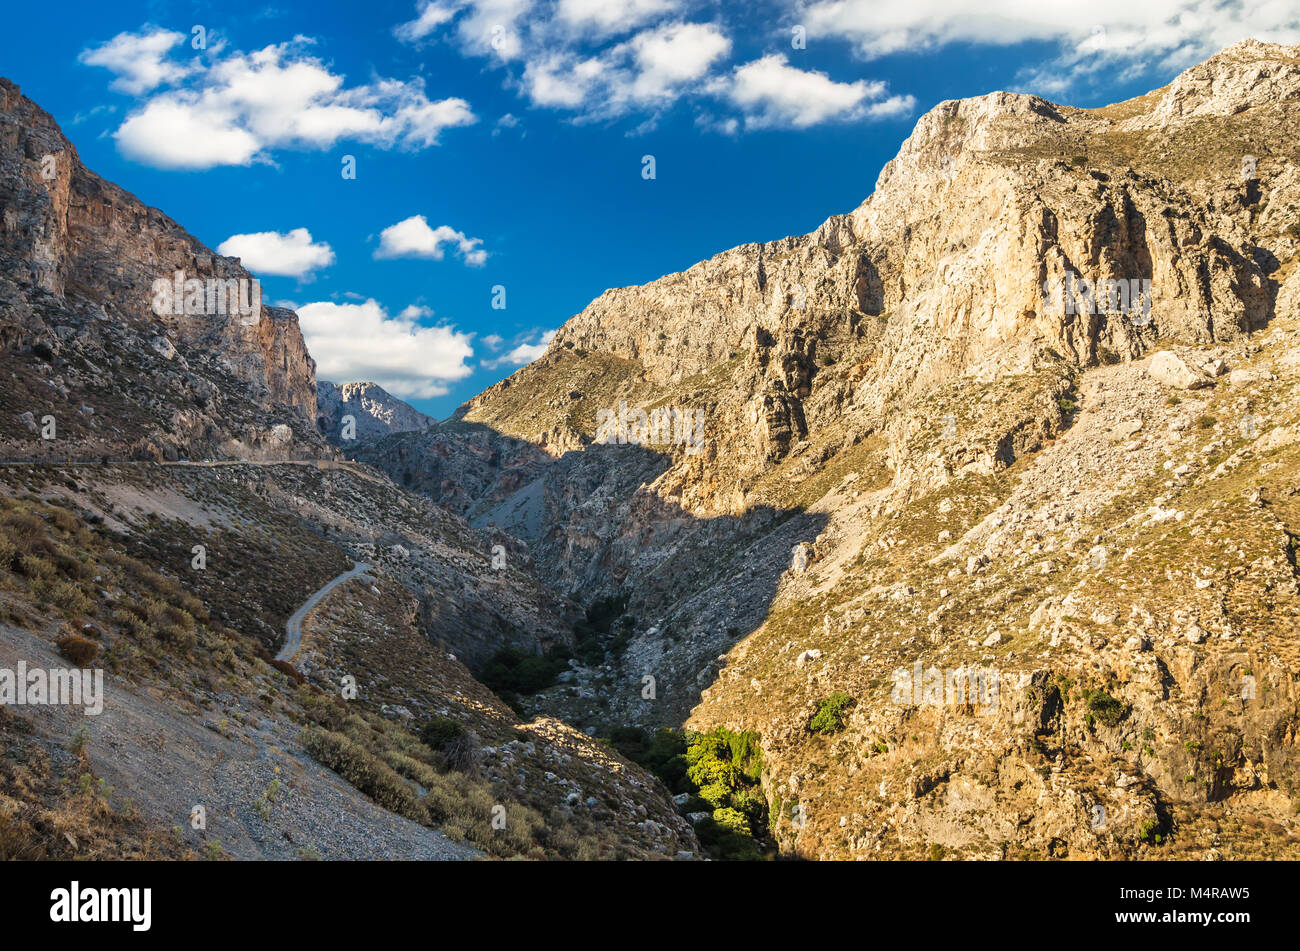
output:
[[1101,105],[1245,36],[1300,42],[1300,3],[1279,0],[159,0],[6,19],[0,74],[91,169],[296,307],[322,379],[438,417],[606,287],[853,209],[944,99]]

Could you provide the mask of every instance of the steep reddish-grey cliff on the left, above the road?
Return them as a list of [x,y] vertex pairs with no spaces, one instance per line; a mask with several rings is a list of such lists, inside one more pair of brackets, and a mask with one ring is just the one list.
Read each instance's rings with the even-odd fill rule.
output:
[[[39,378],[55,394],[20,405],[10,391],[6,453],[321,450],[316,366],[296,316],[261,304],[238,260],[86,169],[48,113],[8,81],[0,203],[4,359],[16,381]],[[181,294],[161,303],[156,282]],[[31,439],[25,413],[53,416],[62,433]]]

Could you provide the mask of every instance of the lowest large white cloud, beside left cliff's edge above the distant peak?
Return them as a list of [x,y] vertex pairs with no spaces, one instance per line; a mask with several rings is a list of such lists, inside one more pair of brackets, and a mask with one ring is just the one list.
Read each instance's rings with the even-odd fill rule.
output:
[[471,334],[391,317],[374,300],[304,304],[298,320],[320,379],[372,381],[395,396],[429,399],[473,372]]

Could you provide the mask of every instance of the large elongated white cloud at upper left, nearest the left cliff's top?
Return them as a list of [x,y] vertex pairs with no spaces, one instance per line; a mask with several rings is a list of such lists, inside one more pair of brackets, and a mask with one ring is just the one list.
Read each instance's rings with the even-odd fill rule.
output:
[[156,92],[126,117],[114,134],[118,148],[156,168],[208,169],[341,140],[426,148],[445,129],[476,121],[463,99],[430,100],[419,78],[344,86],[343,75],[303,52],[306,44],[299,38],[195,66],[186,84]]

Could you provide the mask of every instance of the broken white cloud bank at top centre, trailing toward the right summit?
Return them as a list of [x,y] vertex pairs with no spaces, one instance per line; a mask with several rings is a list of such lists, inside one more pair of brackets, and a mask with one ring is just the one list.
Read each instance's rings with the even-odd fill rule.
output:
[[[933,6],[933,0],[918,1]],[[781,56],[723,71],[733,49],[732,31],[767,27],[755,27],[753,14],[725,6],[714,22],[682,18],[701,5],[697,0],[420,0],[416,19],[396,34],[416,42],[438,32],[464,56],[517,61],[523,70],[512,69],[507,84],[534,107],[572,113],[575,122],[640,113],[645,118],[633,135],[654,127],[677,101],[710,95],[738,105],[745,129],[885,118],[915,107],[910,96],[887,97],[881,83],[835,82],[794,69]],[[823,12],[823,18],[829,16]],[[742,127],[734,116],[707,117],[699,125],[728,134]]]

